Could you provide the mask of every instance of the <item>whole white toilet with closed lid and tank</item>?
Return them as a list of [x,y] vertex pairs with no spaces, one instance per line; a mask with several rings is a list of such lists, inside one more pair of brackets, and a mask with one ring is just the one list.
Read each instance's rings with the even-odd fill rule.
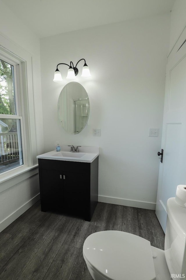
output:
[[94,280],[186,279],[186,208],[167,201],[165,251],[137,235],[95,232],[83,245],[83,257]]

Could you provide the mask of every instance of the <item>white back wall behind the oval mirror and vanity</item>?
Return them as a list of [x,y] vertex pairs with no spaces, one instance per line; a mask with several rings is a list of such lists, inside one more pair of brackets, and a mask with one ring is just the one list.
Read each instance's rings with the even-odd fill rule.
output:
[[[131,20],[42,38],[44,150],[99,146],[99,201],[155,209],[170,15]],[[60,127],[57,102],[67,83],[53,82],[56,65],[85,58],[92,77],[77,82],[90,98],[88,125],[77,135]],[[81,70],[83,62],[79,65]],[[148,137],[149,128],[159,137]],[[101,137],[92,129],[101,128]]]

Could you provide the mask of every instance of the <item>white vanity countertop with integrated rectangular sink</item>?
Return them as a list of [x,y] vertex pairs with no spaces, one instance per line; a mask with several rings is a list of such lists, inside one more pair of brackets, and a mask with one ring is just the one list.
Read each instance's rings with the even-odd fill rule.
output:
[[[60,145],[60,148],[61,148],[60,152],[56,152],[56,150],[53,150],[51,152],[38,155],[37,158],[43,158],[47,160],[75,161],[75,162],[93,162],[93,160],[95,160],[95,158],[99,156],[99,147],[81,146],[79,147],[79,153],[73,153],[73,152],[70,153],[70,147],[65,145],[62,146]],[[65,156],[63,156],[62,154]]]

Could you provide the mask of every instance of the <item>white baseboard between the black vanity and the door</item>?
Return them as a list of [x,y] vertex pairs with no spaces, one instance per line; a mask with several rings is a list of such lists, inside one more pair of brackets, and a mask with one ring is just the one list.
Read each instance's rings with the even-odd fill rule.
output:
[[123,199],[123,198],[117,198],[117,197],[109,197],[109,196],[103,196],[103,195],[98,195],[98,201],[104,202],[104,203],[111,203],[111,204],[143,208],[143,209],[151,209],[151,210],[155,210],[155,207],[156,207],[156,203],[152,203],[152,202],[144,202],[144,201]]

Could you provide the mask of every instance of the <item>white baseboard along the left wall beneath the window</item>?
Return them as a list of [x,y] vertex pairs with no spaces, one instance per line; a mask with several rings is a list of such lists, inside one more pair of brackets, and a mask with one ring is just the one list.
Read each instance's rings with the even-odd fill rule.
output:
[[35,197],[30,199],[20,208],[18,208],[15,212],[10,214],[0,223],[0,232],[4,230],[8,225],[10,225],[13,221],[15,221],[19,216],[21,216],[26,210],[28,210],[33,204],[35,204],[40,199],[40,193],[38,193]]

